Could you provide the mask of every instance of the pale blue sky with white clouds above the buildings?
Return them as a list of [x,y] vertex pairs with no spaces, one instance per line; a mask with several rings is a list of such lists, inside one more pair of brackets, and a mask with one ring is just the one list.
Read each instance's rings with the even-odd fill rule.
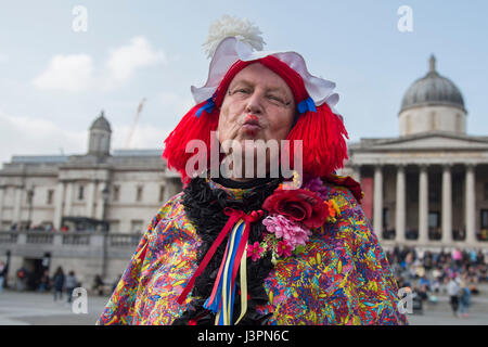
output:
[[205,83],[203,43],[226,14],[336,83],[350,142],[399,134],[401,99],[431,54],[463,94],[467,133],[488,136],[486,13],[485,0],[0,0],[0,163],[86,153],[102,110],[112,150],[162,149]]

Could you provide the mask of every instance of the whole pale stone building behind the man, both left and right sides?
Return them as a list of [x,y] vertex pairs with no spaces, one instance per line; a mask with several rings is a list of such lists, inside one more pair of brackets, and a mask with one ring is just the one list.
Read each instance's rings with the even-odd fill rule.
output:
[[[399,137],[349,144],[339,174],[361,181],[363,208],[386,245],[488,244],[488,137],[467,134],[466,117],[462,93],[432,56],[401,101]],[[111,151],[111,134],[102,113],[86,154],[13,156],[0,170],[0,229],[144,230],[180,179],[162,149]]]

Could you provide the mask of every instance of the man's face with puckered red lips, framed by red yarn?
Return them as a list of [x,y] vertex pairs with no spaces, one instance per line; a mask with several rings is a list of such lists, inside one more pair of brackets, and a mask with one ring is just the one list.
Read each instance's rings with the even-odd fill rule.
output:
[[292,90],[275,73],[259,63],[239,72],[220,107],[219,141],[286,139],[295,114]]

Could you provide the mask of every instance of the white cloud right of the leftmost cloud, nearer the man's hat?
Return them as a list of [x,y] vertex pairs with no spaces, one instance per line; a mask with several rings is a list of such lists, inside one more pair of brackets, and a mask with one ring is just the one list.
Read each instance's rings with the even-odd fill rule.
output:
[[127,81],[137,68],[160,62],[166,62],[162,51],[155,51],[145,37],[134,37],[129,44],[111,50],[106,62],[108,82]]

